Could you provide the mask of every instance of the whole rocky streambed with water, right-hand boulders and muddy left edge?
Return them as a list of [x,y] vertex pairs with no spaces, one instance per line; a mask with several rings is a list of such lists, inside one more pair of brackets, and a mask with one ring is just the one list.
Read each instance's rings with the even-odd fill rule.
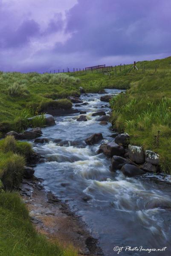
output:
[[[103,251],[105,256],[110,256],[116,255],[113,251],[116,246],[142,246],[167,247],[163,255],[170,255],[171,184],[169,179],[164,181],[163,175],[156,174],[159,171],[157,154],[143,152],[141,147],[128,147],[128,134],[110,130],[108,100],[110,94],[121,90],[106,91],[106,94],[81,95],[80,102],[74,103],[79,113],[55,117],[55,125],[43,128],[41,137],[30,140],[43,158],[35,166],[38,180],[23,184],[21,192],[26,195],[26,190],[32,187],[25,200],[35,219],[37,208],[43,212],[38,213],[43,223],[37,223],[39,230],[64,240],[64,233],[70,227],[67,242],[71,241],[82,254],[101,255]],[[53,207],[52,201],[48,203],[49,196],[58,201],[54,201]],[[49,215],[55,216],[53,225],[45,220],[48,211],[43,208],[46,207]],[[59,225],[59,216],[64,217],[63,208],[65,213],[69,212],[67,216],[73,216],[67,226],[64,219],[63,225]],[[78,218],[79,223],[74,222],[74,218]],[[74,227],[78,229],[72,233]],[[79,239],[84,246],[76,243]],[[97,239],[99,244],[92,239]],[[119,255],[144,256],[147,252],[123,251]],[[158,256],[161,252],[151,252],[151,255]]]

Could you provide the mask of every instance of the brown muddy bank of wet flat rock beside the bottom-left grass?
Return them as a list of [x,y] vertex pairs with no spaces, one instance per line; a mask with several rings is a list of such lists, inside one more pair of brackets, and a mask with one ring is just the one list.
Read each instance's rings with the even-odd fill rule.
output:
[[70,244],[78,255],[103,255],[81,218],[70,211],[67,204],[51,192],[46,192],[41,179],[23,179],[20,195],[26,203],[36,230],[52,242],[59,241],[64,247]]

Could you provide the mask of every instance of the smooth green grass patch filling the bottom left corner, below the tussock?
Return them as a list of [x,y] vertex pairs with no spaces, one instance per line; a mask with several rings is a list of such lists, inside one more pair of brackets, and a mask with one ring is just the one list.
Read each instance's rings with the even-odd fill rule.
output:
[[0,255],[76,256],[72,249],[52,244],[32,226],[25,204],[17,193],[0,193]]

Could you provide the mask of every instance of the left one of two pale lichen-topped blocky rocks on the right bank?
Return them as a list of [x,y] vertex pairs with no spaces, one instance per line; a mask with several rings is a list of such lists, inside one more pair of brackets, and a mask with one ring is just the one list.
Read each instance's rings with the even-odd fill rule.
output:
[[145,157],[142,147],[128,145],[129,159],[135,163],[144,163]]

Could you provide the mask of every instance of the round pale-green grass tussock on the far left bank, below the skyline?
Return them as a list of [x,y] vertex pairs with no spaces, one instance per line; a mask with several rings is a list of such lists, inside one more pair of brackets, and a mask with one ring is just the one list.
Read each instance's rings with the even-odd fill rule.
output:
[[29,92],[24,84],[20,84],[16,81],[8,87],[8,93],[10,96],[25,97]]

